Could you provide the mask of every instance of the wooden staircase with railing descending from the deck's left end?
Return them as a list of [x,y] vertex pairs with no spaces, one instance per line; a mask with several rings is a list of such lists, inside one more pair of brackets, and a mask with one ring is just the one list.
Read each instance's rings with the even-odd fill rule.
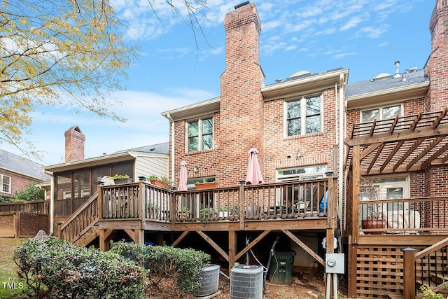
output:
[[98,192],[96,192],[61,225],[60,238],[80,246],[88,245],[98,237],[98,220]]

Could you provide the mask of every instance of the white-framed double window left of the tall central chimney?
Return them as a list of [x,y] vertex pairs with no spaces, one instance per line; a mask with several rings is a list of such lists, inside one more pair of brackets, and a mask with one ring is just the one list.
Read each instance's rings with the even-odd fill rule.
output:
[[187,123],[188,152],[213,148],[213,118],[199,118]]

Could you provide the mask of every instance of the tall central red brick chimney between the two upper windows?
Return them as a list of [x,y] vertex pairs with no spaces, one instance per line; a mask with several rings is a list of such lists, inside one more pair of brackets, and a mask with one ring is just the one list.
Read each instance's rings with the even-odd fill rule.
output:
[[263,169],[263,98],[260,67],[260,18],[245,2],[225,16],[225,71],[221,75],[220,166],[218,177],[235,186],[246,176],[248,151],[255,146]]

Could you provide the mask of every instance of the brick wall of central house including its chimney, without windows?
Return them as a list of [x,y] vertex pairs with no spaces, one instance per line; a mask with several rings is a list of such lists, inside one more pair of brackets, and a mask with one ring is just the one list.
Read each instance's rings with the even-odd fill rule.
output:
[[[186,153],[186,122],[175,123],[175,182],[182,159],[188,177],[213,176],[221,187],[236,186],[246,178],[248,151],[258,149],[265,182],[276,180],[276,169],[328,165],[332,169],[335,144],[335,88],[323,90],[323,130],[316,134],[283,137],[283,99],[264,102],[264,76],[259,65],[260,20],[254,4],[228,13],[225,25],[225,71],[221,76],[221,107],[214,115],[214,148]],[[297,151],[302,158],[296,159]],[[290,155],[290,158],[288,158]],[[193,173],[193,167],[200,169]]]

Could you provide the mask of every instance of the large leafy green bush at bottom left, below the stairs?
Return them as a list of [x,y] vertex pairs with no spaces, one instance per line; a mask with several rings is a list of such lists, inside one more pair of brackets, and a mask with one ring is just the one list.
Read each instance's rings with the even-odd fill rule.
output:
[[32,298],[143,298],[144,272],[117,253],[29,239],[14,253]]

